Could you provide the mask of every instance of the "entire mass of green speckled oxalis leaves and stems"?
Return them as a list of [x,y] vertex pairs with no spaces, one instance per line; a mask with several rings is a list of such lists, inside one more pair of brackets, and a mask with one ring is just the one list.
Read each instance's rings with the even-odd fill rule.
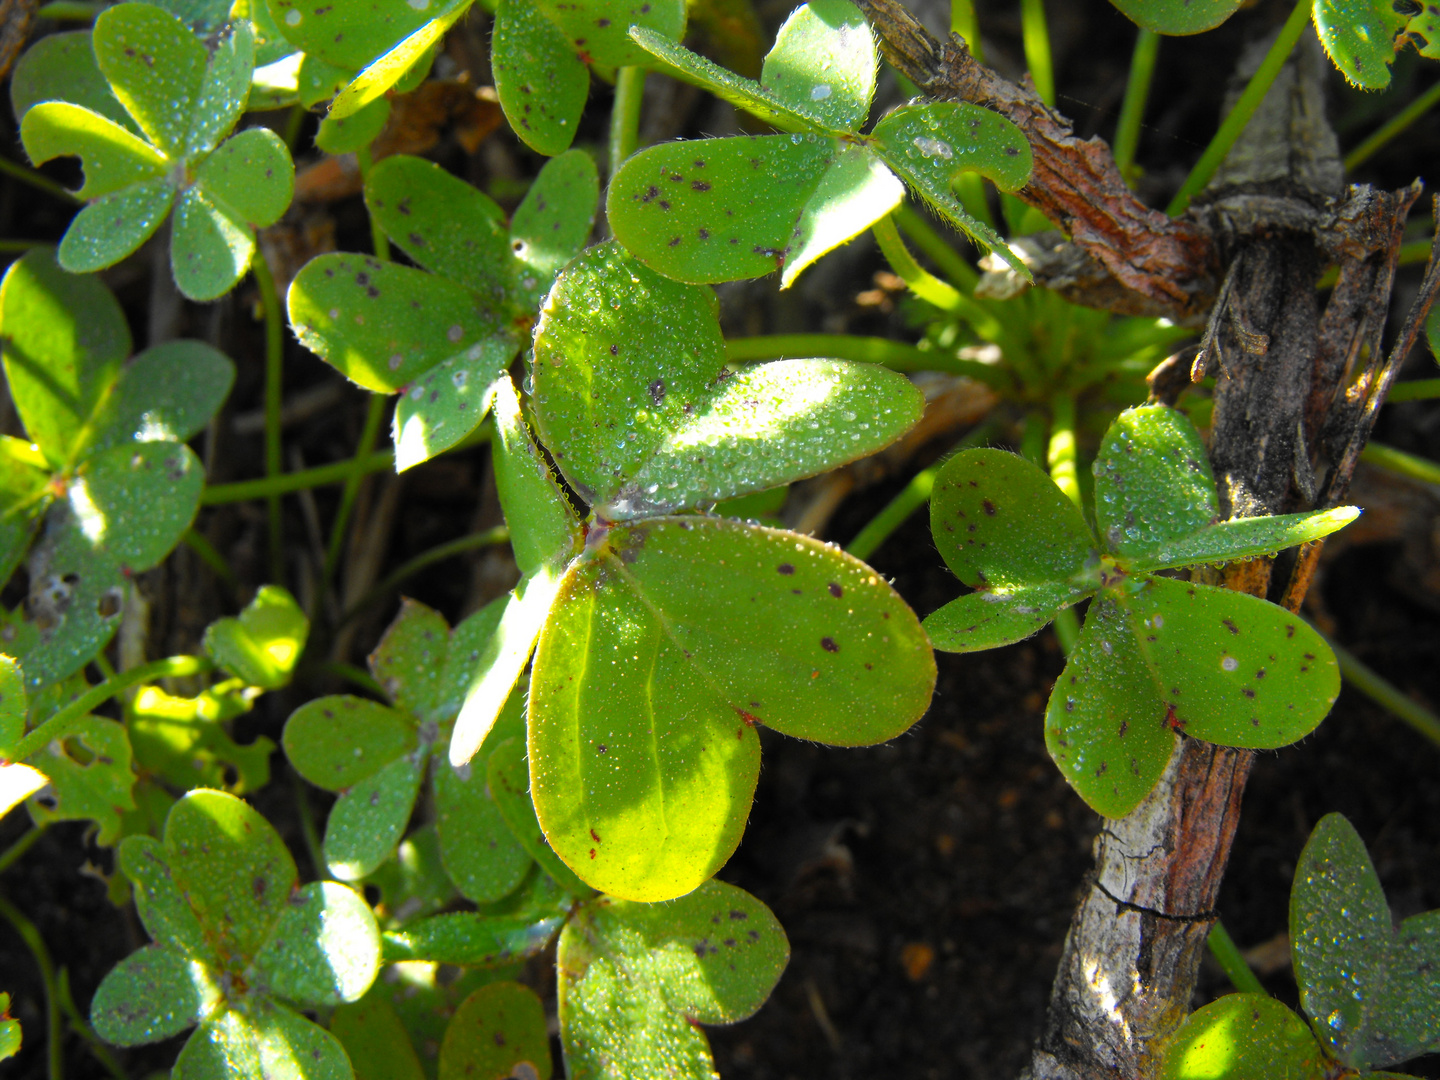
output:
[[[1198,32],[1238,6],[1117,0],[1146,33]],[[1380,86],[1400,45],[1433,49],[1433,12],[1401,7],[1302,0],[1280,40],[1313,20],[1341,71]],[[35,164],[78,157],[84,206],[58,251],[30,251],[0,284],[26,436],[0,441],[0,576],[27,576],[0,619],[0,814],[24,802],[37,829],[91,822],[115,852],[111,899],[132,900],[151,939],[101,984],[89,1024],[66,1008],[102,1063],[101,1040],[193,1028],[173,1068],[190,1080],[539,1080],[556,1071],[554,1034],[573,1079],[713,1077],[703,1025],[755,1012],[789,952],[769,909],[716,878],[750,812],[762,727],[883,743],[930,701],[932,642],[994,648],[1056,619],[1068,660],[1045,743],[1076,792],[1119,818],[1178,740],[1279,747],[1329,710],[1329,647],[1296,615],[1207,583],[1207,567],[1319,540],[1358,511],[1221,521],[1201,436],[1159,405],[1113,422],[1083,508],[1077,444],[1189,331],[1014,295],[1030,256],[995,223],[1041,228],[1008,194],[1040,171],[1021,128],[924,98],[871,122],[878,39],[847,0],[796,9],[753,68],[732,63],[757,79],[681,43],[687,19],[713,30],[743,23],[740,9],[500,0],[495,98],[550,158],[513,212],[508,193],[423,157],[372,157],[445,33],[478,13],[471,0],[120,3],[20,60],[23,147]],[[1037,9],[1024,6],[1027,50]],[[647,71],[765,134],[639,148]],[[599,166],[582,132],[592,81],[615,85]],[[314,657],[301,667],[320,602],[272,583],[193,655],[107,651],[143,622],[135,576],[181,539],[228,570],[192,523],[229,495],[206,490],[186,442],[233,366],[196,341],[131,356],[92,272],[166,229],[160,251],[190,300],[255,275],[272,406],[259,495],[279,539],[279,492],[301,481],[287,487],[279,465],[282,312],[255,230],[289,206],[288,147],[324,102],[314,143],[356,156],[374,249],[318,255],[285,298],[294,336],[373,395],[333,549],[393,399],[397,471],[488,444],[520,582],[454,628],[403,600],[367,672],[330,668],[359,693],[285,701],[278,749],[325,878],[302,886],[242,798],[269,785],[276,743],[242,744],[233,721],[320,678]],[[279,107],[294,109],[285,138],[246,120]],[[593,243],[602,174],[608,239]],[[907,197],[989,255],[985,289]],[[789,288],[867,229],[929,304],[927,347],[855,351],[995,387],[1030,410],[1024,449],[1051,467],[976,448],[922,474],[936,546],[972,590],[923,624],[860,559],[750,520],[756,497],[773,508],[793,481],[912,432],[916,383],[814,338],[727,343],[710,288],[770,274]],[[900,229],[952,281],[922,269]],[[956,354],[966,343],[999,359]],[[272,554],[278,579],[278,543]],[[1067,629],[1081,605],[1084,628]],[[337,628],[320,621],[324,644]],[[115,717],[98,714],[107,703]],[[302,783],[334,796],[323,829]],[[1292,900],[1303,1018],[1263,995],[1223,998],[1165,1043],[1161,1074],[1332,1077],[1436,1050],[1433,914],[1392,930],[1362,845],[1326,818]],[[534,989],[550,965],[553,1024]],[[56,1008],[68,994],[60,979]],[[0,994],[0,1060],[20,1041],[9,1007]]]

